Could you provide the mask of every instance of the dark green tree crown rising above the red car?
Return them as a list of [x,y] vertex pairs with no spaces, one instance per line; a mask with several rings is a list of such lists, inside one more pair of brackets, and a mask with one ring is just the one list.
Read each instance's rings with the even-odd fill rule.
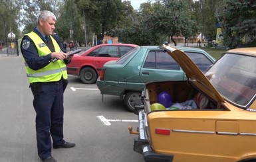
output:
[[120,0],[76,0],[75,3],[80,15],[85,13],[90,29],[100,40],[113,28],[124,26],[130,19],[127,15],[132,14],[132,8],[126,1],[122,3]]

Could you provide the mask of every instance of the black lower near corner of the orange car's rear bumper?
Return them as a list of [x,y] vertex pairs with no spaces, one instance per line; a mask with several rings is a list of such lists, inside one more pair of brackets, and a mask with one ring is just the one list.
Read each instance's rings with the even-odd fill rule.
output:
[[174,155],[164,155],[152,151],[146,140],[135,139],[134,151],[142,153],[146,162],[172,162]]

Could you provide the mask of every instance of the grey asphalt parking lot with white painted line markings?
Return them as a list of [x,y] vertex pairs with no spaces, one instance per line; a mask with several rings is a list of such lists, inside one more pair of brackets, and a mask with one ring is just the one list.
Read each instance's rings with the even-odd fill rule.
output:
[[[35,162],[35,110],[21,56],[0,57],[0,162]],[[70,149],[53,149],[59,162],[142,162],[133,151],[138,116],[128,112],[118,97],[102,96],[96,84],[84,85],[68,76],[64,93],[64,139],[76,143]]]

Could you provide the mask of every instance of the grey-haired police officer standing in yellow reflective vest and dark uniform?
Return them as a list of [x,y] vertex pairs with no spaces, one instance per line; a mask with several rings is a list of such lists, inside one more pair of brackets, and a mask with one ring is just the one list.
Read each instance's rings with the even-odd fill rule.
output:
[[56,161],[51,155],[51,138],[55,149],[75,145],[63,140],[63,92],[68,77],[66,63],[70,62],[72,56],[61,52],[61,46],[53,38],[55,22],[53,13],[41,11],[37,28],[25,34],[21,41],[21,52],[37,114],[38,155],[45,162]]

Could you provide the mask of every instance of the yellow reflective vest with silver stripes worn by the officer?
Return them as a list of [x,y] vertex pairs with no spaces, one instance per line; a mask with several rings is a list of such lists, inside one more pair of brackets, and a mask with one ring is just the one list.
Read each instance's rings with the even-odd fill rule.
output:
[[[47,54],[51,54],[51,50],[48,48],[45,42],[43,42],[40,36],[37,35],[35,32],[31,32],[25,35],[29,36],[29,38],[31,38],[35,43],[35,46],[37,47],[37,51],[39,53],[39,57],[46,56]],[[57,41],[53,38],[53,36],[50,36],[50,37],[53,42],[55,52],[61,51],[61,48],[59,47],[59,44],[57,43]],[[27,65],[24,58],[23,58],[23,61],[26,65],[26,71],[27,71],[27,77],[29,78],[29,83],[59,81],[61,80],[62,77],[64,79],[68,78],[68,74],[66,72],[66,63],[64,63],[63,60],[52,61],[47,66],[38,70],[31,69]]]

